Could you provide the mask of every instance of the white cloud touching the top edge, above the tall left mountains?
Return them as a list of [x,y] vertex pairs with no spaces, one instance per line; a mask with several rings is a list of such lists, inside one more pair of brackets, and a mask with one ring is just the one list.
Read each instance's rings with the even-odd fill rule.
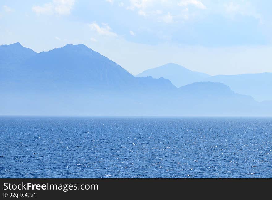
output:
[[68,15],[74,6],[75,0],[53,0],[43,6],[33,6],[32,10],[37,14],[46,15]]

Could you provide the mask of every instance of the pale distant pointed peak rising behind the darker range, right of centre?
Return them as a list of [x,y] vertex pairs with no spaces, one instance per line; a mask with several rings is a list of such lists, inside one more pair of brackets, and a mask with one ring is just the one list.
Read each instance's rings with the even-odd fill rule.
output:
[[153,78],[163,77],[169,79],[176,87],[203,81],[204,79],[210,77],[208,74],[194,72],[174,63],[168,63],[160,67],[148,69],[137,75],[137,77],[147,76],[152,76]]

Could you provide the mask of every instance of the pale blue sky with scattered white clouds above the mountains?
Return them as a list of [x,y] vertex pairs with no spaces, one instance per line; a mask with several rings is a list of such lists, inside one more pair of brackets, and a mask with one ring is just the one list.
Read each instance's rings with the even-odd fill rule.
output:
[[85,44],[137,75],[172,62],[217,74],[272,72],[270,0],[1,0],[0,45]]

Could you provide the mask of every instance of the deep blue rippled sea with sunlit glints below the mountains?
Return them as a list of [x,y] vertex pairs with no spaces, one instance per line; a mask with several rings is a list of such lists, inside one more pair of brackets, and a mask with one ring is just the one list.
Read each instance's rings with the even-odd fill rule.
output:
[[1,178],[272,178],[272,118],[0,116]]

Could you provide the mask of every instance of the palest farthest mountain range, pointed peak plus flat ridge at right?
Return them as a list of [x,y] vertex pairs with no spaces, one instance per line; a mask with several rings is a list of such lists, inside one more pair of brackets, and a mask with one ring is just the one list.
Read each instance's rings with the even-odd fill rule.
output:
[[252,96],[256,101],[272,100],[272,73],[267,72],[210,76],[205,73],[191,71],[181,65],[168,63],[160,67],[148,69],[137,75],[137,77],[147,76],[167,78],[176,87],[201,81],[219,82],[228,85],[236,93]]

